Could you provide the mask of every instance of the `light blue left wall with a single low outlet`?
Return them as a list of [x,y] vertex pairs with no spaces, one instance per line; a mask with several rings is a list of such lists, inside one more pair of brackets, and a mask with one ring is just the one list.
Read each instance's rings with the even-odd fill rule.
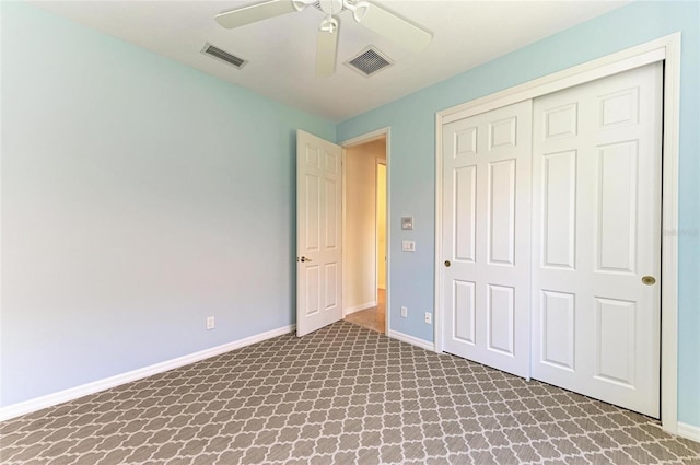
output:
[[334,124],[1,8],[0,406],[293,324],[295,129]]

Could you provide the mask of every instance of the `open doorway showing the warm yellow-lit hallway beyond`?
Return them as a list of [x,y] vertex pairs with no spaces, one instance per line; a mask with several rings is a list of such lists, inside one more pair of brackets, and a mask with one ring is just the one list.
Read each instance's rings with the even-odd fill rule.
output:
[[386,333],[386,135],[345,147],[343,316]]

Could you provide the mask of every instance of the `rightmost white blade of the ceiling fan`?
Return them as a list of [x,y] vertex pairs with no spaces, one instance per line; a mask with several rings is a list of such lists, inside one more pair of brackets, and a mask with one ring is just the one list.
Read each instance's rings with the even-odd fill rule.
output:
[[433,38],[432,33],[409,23],[376,3],[369,4],[360,24],[412,53],[423,50]]

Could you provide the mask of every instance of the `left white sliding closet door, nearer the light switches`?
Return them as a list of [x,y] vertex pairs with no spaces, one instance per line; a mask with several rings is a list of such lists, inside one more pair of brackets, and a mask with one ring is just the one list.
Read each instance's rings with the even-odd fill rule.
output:
[[532,102],[443,126],[444,351],[529,375]]

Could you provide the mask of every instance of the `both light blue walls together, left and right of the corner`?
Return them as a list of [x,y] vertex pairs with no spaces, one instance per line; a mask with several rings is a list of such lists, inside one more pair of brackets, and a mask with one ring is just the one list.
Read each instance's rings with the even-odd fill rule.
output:
[[[700,228],[698,2],[625,7],[337,126],[0,5],[0,406],[292,324],[296,128],[342,141],[390,126],[393,329],[433,340],[435,112],[677,31],[679,226]],[[679,245],[678,414],[700,426],[700,237]]]

